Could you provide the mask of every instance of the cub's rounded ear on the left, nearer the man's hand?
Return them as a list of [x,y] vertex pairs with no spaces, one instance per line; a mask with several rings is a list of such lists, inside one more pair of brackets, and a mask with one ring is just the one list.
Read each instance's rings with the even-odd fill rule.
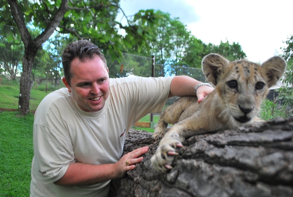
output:
[[228,65],[229,60],[218,54],[211,53],[205,56],[202,62],[202,69],[207,81],[216,86],[218,83],[218,76],[222,73],[223,67]]

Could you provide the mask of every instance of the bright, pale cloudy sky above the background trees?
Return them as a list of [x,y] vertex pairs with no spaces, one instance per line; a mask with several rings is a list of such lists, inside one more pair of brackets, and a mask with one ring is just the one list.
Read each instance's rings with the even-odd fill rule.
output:
[[293,0],[120,0],[120,6],[126,16],[142,9],[167,12],[205,44],[239,43],[256,63],[282,54],[293,35]]

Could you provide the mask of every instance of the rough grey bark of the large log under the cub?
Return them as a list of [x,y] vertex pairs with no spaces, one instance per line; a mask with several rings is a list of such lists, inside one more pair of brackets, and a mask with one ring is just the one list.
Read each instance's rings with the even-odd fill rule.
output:
[[183,145],[173,169],[161,174],[150,163],[158,142],[130,131],[124,153],[149,151],[112,180],[110,197],[293,197],[293,118],[195,135]]

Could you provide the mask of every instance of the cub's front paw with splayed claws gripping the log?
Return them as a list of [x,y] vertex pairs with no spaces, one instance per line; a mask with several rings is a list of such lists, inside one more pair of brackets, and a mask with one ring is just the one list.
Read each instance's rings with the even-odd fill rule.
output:
[[182,147],[181,142],[173,141],[159,145],[156,153],[151,157],[150,161],[156,170],[167,172],[172,169],[173,155],[177,155],[175,147]]

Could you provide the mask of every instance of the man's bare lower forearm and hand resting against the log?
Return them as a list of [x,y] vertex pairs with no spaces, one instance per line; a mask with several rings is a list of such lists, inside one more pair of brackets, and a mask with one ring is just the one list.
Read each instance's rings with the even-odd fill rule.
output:
[[[91,165],[85,163],[71,163],[61,179],[55,181],[57,185],[77,186],[93,185],[105,180],[123,177],[128,170],[135,168],[136,163],[143,160],[142,154],[148,147],[136,149],[125,154],[114,164]],[[129,165],[126,165],[126,161]]]

